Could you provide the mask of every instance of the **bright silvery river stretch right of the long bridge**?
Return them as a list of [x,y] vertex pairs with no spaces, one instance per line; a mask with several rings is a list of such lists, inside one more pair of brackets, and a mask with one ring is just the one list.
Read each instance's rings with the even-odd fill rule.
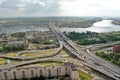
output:
[[93,24],[93,26],[89,28],[61,28],[62,32],[98,32],[98,33],[106,33],[106,32],[113,32],[113,31],[120,31],[119,25],[114,25],[111,23],[112,20],[102,20]]

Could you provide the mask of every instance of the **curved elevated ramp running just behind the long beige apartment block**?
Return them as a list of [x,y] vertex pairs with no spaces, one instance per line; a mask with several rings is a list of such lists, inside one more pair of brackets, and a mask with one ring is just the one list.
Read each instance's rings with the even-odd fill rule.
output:
[[7,65],[2,65],[0,66],[0,70],[6,70],[6,69],[11,69],[11,68],[16,68],[19,66],[23,66],[23,65],[30,65],[36,62],[45,62],[45,61],[57,61],[57,62],[70,62],[70,63],[76,63],[77,65],[79,65],[79,63],[83,63],[82,61],[77,61],[76,59],[70,59],[70,58],[53,58],[53,57],[49,57],[49,58],[42,58],[42,59],[35,59],[35,60],[29,60],[29,61],[23,61],[23,62],[17,62],[17,63],[13,63],[13,64],[7,64]]

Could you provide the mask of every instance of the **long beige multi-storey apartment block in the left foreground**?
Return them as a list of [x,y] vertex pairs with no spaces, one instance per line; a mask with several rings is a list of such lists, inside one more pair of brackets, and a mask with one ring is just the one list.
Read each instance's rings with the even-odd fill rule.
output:
[[28,66],[20,67],[11,70],[0,71],[0,80],[14,80],[14,79],[31,79],[34,77],[43,76],[46,79],[50,77],[69,77],[70,80],[79,80],[76,66],[70,63],[65,63],[59,67],[40,67]]

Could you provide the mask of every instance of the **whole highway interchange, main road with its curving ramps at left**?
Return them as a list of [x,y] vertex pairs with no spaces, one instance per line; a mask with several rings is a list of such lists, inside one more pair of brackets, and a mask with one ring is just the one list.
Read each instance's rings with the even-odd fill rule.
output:
[[[119,77],[115,76],[115,74],[120,75],[120,68],[118,66],[115,66],[111,63],[108,63],[105,60],[102,60],[100,58],[97,58],[97,57],[91,55],[88,50],[83,51],[82,49],[80,49],[76,43],[74,43],[73,41],[68,39],[63,33],[61,33],[54,26],[54,22],[50,21],[49,28],[56,35],[57,40],[60,44],[60,47],[55,52],[53,52],[53,54],[57,54],[64,47],[71,54],[76,56],[76,59],[57,58],[57,57],[52,57],[52,56],[48,56],[48,58],[45,57],[42,59],[32,57],[32,59],[34,59],[34,60],[23,61],[22,63],[18,62],[18,63],[14,63],[14,64],[7,64],[7,65],[0,66],[0,70],[15,68],[17,66],[22,66],[25,64],[31,64],[31,63],[40,62],[40,61],[60,61],[60,62],[67,61],[67,62],[74,63],[77,65],[83,64],[85,66],[88,66],[88,67],[90,67],[98,72],[101,72],[101,73],[113,78],[114,80],[120,80]],[[23,59],[19,56],[8,57],[8,56],[2,55],[0,57],[10,58],[10,59],[20,59],[20,60],[27,60],[28,59],[28,58]]]

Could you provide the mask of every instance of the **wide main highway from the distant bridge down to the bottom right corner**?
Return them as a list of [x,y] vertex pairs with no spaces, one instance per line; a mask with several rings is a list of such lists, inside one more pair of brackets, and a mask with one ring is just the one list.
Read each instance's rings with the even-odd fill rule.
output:
[[62,34],[59,30],[57,30],[54,24],[50,25],[50,29],[58,36],[60,40],[63,41],[63,46],[73,55],[75,55],[78,59],[86,62],[86,66],[91,67],[115,80],[120,80],[120,78],[116,77],[115,74],[120,75],[120,68],[114,65],[109,64],[106,61],[100,60],[87,52],[81,50],[76,43],[69,40],[64,34]]

